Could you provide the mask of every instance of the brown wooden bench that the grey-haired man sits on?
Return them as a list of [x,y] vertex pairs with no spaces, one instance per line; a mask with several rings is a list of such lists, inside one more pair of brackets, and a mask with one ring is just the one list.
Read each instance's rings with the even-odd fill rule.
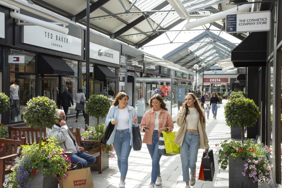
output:
[[[102,174],[102,144],[100,141],[95,141],[95,140],[81,140],[80,137],[80,129],[76,128],[75,131],[73,131],[73,128],[69,128],[74,137],[76,138],[76,141],[78,143],[79,147],[83,147],[81,143],[98,143],[98,151],[85,151],[85,153],[92,155],[96,158],[96,163],[92,164],[92,167],[97,167],[98,168],[98,173]],[[32,144],[34,142],[39,143],[39,128],[32,128],[32,127],[12,127],[8,126],[8,132],[9,132],[9,139],[12,140],[19,140],[20,137],[26,137],[26,144]],[[17,137],[17,139],[16,139]],[[46,139],[46,129],[42,131],[43,141]],[[67,155],[70,155],[71,153],[67,153]]]

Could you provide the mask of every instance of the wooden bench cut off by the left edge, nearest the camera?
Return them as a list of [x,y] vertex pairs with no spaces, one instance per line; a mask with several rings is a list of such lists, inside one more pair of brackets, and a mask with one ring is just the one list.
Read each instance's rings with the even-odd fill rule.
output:
[[[3,187],[5,175],[12,172],[14,168],[14,160],[21,154],[21,145],[26,144],[26,138],[22,137],[20,140],[11,140],[0,138],[0,146],[3,149],[0,155],[0,188]],[[3,145],[3,146],[2,146]]]

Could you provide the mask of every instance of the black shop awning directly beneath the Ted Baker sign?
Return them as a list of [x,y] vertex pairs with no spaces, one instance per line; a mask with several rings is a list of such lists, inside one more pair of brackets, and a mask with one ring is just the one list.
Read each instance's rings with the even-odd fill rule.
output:
[[38,68],[39,74],[57,74],[74,76],[74,71],[70,66],[60,57],[49,55],[38,55]]

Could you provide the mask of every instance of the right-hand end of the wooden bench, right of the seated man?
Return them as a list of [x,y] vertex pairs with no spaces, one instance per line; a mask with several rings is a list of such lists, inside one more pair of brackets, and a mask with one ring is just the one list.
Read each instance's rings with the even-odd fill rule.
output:
[[79,147],[83,147],[83,145],[81,145],[81,143],[84,142],[88,142],[88,143],[98,143],[98,151],[84,151],[85,153],[92,155],[96,158],[96,163],[92,164],[91,167],[97,167],[98,168],[98,173],[102,174],[102,144],[100,141],[97,140],[81,140],[80,137],[80,130],[79,128],[76,128],[74,132],[72,132],[72,134],[74,135],[77,144]]

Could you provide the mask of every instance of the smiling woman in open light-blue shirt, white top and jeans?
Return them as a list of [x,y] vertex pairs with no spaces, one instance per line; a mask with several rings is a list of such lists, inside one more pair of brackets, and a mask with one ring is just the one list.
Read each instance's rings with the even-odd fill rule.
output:
[[133,147],[132,127],[138,126],[135,109],[127,104],[128,100],[129,97],[126,93],[119,92],[115,99],[112,100],[113,105],[106,118],[106,125],[111,126],[109,125],[111,122],[112,126],[115,126],[107,144],[113,144],[118,158],[118,169],[120,171],[119,188],[124,188],[125,185],[128,157]]

